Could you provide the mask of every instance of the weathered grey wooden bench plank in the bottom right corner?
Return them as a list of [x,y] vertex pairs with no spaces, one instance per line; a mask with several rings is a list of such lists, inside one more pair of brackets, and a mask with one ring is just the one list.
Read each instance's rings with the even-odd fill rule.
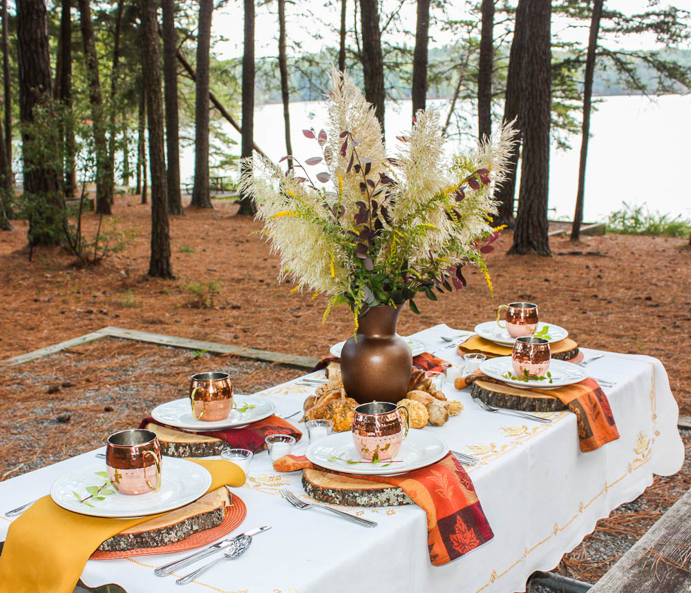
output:
[[609,569],[589,593],[691,591],[691,490]]

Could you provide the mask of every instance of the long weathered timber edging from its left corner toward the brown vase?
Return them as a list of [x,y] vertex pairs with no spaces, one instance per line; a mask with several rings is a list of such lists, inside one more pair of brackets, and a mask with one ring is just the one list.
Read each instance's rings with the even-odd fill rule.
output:
[[128,340],[140,340],[141,342],[151,342],[152,344],[162,344],[163,346],[173,346],[176,348],[187,348],[190,350],[203,350],[218,354],[233,354],[243,358],[254,358],[265,362],[285,364],[287,367],[298,369],[312,369],[319,362],[316,358],[307,356],[294,356],[292,354],[282,354],[267,350],[254,348],[243,348],[241,346],[229,346],[228,344],[218,344],[216,342],[205,342],[204,340],[192,340],[191,338],[178,338],[176,336],[164,336],[160,333],[150,333],[149,331],[138,331],[136,329],[124,329],[121,327],[104,327],[99,330],[113,338],[125,338]]

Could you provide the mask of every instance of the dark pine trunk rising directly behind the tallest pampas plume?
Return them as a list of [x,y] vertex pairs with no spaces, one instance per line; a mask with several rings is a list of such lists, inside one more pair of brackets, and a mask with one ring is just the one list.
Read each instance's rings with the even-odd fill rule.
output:
[[362,72],[365,79],[365,98],[375,106],[375,115],[384,135],[384,59],[381,56],[378,0],[360,0],[360,28],[362,33]]

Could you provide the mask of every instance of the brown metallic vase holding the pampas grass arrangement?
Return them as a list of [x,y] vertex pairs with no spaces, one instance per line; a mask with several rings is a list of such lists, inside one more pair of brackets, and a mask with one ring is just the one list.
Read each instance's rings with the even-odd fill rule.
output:
[[357,342],[341,351],[341,376],[349,398],[359,403],[397,402],[406,397],[413,355],[396,333],[401,307],[372,307],[358,318]]

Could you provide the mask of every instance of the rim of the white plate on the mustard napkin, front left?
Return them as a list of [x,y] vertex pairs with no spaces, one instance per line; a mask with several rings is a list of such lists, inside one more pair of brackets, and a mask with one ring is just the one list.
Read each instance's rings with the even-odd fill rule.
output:
[[[151,512],[149,510],[146,511],[146,513],[142,514],[141,512],[113,512],[113,511],[108,511],[106,512],[105,509],[99,509],[98,507],[87,507],[86,505],[79,505],[75,501],[74,505],[67,505],[64,503],[63,500],[59,498],[59,494],[57,492],[57,489],[60,487],[60,482],[61,480],[66,480],[71,476],[72,474],[77,474],[78,472],[91,472],[93,469],[93,474],[95,472],[103,472],[106,469],[105,462],[93,462],[88,465],[81,465],[79,467],[75,467],[74,469],[70,469],[68,472],[65,472],[59,478],[56,478],[53,481],[53,484],[50,486],[50,498],[53,499],[53,502],[58,505],[59,507],[69,511],[73,512],[79,515],[86,515],[86,516],[91,516],[91,517],[103,517],[103,518],[114,518],[114,519],[128,519],[128,518],[136,518],[136,517],[145,517],[145,516],[151,516],[151,515],[156,515],[159,513],[166,513],[169,511],[173,511],[175,509],[179,509],[180,507],[184,507],[184,505],[189,505],[189,503],[193,502],[194,500],[197,500],[200,496],[204,496],[206,494],[207,490],[211,486],[211,482],[213,481],[213,478],[211,478],[211,474],[209,473],[209,470],[204,467],[203,465],[200,465],[199,463],[193,463],[193,461],[189,461],[187,459],[180,459],[176,457],[166,457],[162,461],[162,465],[165,468],[166,464],[173,463],[174,465],[180,465],[184,467],[185,465],[189,465],[191,469],[198,470],[201,473],[200,478],[203,478],[203,481],[200,481],[199,486],[197,489],[187,496],[184,496],[183,498],[178,498],[169,501],[169,503],[161,505],[158,507],[158,509],[155,509]],[[163,474],[163,477],[165,477],[165,474]],[[128,498],[131,498],[135,500],[137,497],[136,496],[131,496],[128,494],[120,494],[120,493],[115,493],[113,496],[125,496],[123,500],[126,500]],[[83,507],[83,508],[82,508]]]

